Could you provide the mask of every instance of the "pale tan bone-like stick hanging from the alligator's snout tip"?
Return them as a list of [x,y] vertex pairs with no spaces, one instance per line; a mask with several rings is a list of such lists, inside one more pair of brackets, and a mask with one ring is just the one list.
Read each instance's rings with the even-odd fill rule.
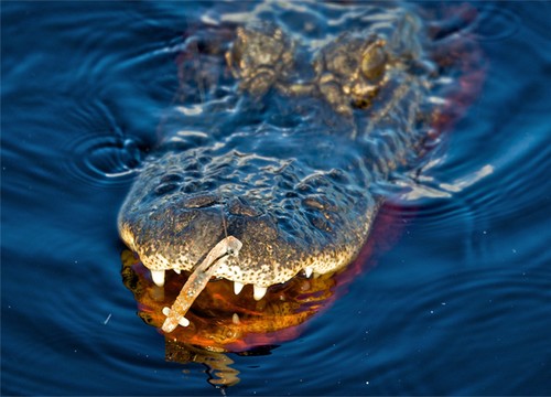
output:
[[[228,236],[210,249],[205,260],[195,268],[185,282],[176,300],[172,304],[172,308],[163,309],[163,314],[166,315],[166,320],[164,320],[162,326],[164,332],[174,331],[179,324],[182,326],[187,326],[190,324],[190,321],[184,315],[187,313],[187,310],[190,310],[201,291],[205,289],[216,267],[219,266],[220,262],[227,260],[228,256],[237,256],[241,247],[241,242],[234,236]],[[263,289],[262,297],[264,293],[266,288]],[[255,289],[255,299],[256,297],[257,289]]]

